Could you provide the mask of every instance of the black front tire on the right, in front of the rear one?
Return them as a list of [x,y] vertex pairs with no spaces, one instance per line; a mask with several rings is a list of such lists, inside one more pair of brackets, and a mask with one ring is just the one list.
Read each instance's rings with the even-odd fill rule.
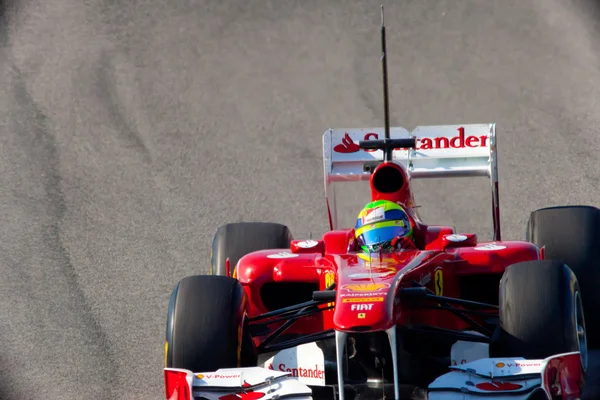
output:
[[580,351],[587,369],[581,291],[565,264],[535,260],[509,266],[500,280],[499,305],[491,357],[543,359]]

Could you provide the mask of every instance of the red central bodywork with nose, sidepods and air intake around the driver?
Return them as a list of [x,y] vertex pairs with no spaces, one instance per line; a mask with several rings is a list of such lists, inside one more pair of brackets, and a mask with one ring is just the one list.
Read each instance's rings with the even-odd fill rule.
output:
[[[385,193],[378,190],[375,178],[385,169],[389,174],[389,168],[397,169],[403,179],[398,190]],[[293,241],[286,250],[293,256],[267,257],[284,252],[282,249],[250,253],[239,261],[235,271],[250,299],[248,316],[272,311],[263,302],[261,288],[266,283],[314,283],[315,290],[324,290],[335,282],[335,307],[302,318],[288,333],[308,334],[331,328],[372,332],[386,330],[394,324],[468,329],[468,325],[452,313],[399,301],[400,289],[412,286],[415,281],[436,295],[463,298],[462,278],[477,275],[499,280],[509,265],[541,257],[540,249],[528,242],[492,242],[493,246],[485,248],[485,244],[478,243],[475,234],[448,238],[456,233],[453,228],[423,224],[414,211],[409,182],[401,165],[380,164],[370,178],[371,197],[397,202],[406,209],[414,226],[418,250],[365,255],[352,251],[353,229],[340,229],[325,233],[321,240],[311,241],[310,247]],[[496,286],[496,295],[497,291]]]

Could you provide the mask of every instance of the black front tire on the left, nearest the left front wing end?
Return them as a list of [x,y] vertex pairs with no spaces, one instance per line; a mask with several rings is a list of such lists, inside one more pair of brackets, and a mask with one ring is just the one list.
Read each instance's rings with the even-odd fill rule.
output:
[[182,279],[169,303],[166,367],[210,372],[252,364],[252,340],[243,329],[245,306],[246,296],[236,279]]

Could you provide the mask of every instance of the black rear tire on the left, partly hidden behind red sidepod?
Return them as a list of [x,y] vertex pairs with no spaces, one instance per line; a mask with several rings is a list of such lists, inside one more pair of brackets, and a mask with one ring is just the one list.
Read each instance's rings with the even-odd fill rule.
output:
[[226,275],[225,260],[231,272],[248,253],[267,249],[289,249],[292,234],[287,226],[272,222],[237,222],[219,227],[213,239],[211,275]]

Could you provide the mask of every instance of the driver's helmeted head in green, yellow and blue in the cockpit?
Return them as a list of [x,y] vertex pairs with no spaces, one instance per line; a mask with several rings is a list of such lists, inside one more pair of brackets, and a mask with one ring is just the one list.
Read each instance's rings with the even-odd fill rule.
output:
[[406,211],[388,200],[373,201],[358,214],[354,235],[358,247],[365,252],[394,250],[401,238],[412,236],[412,226]]

